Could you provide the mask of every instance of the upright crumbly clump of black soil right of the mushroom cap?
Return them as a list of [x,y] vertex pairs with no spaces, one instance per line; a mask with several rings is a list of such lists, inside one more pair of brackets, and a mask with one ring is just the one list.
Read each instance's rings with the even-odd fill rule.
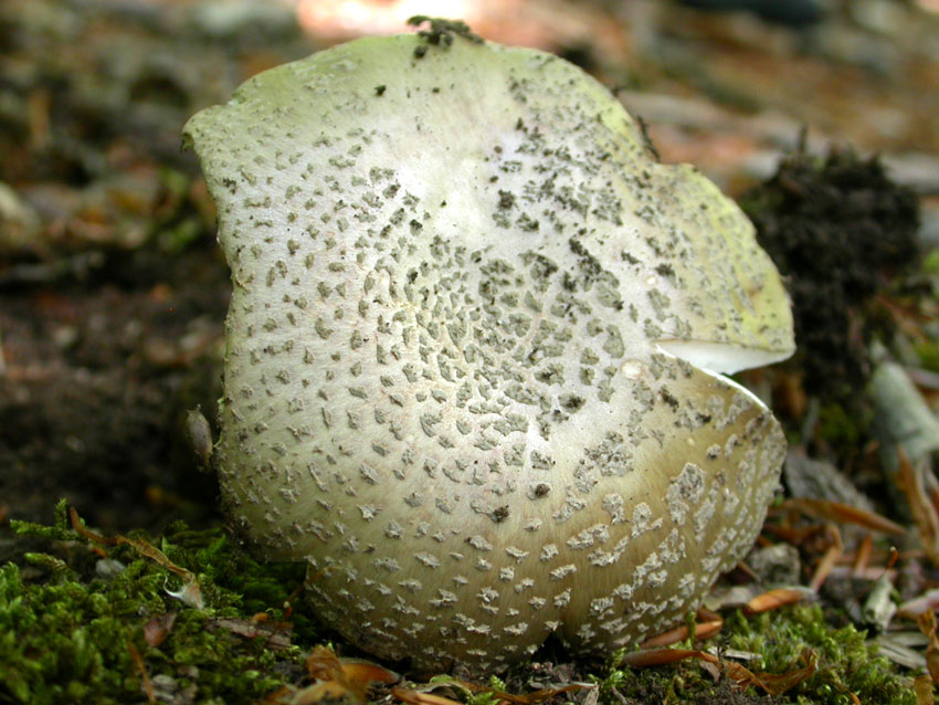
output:
[[[850,150],[823,164],[796,152],[742,199],[760,244],[788,278],[805,391],[844,400],[864,389],[871,297],[916,256],[916,194]],[[887,332],[888,333],[888,332]]]

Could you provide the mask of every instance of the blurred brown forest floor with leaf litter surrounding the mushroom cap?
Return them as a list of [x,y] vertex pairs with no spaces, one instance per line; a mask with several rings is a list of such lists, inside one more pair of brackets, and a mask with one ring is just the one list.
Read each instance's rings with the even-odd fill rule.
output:
[[[253,702],[271,693],[284,698],[272,703],[314,702],[308,691],[308,701],[297,699],[302,690],[277,691],[285,683],[312,682],[310,673],[325,667],[323,654],[305,663],[323,632],[292,617],[294,608],[284,612],[299,577],[279,567],[268,580],[225,545],[218,486],[197,470],[186,440],[187,410],[200,406],[214,424],[230,283],[214,242],[214,209],[194,156],[181,149],[180,129],[259,71],[388,31],[402,19],[395,14],[402,3],[363,1],[350,24],[344,15],[349,4],[0,4],[0,565],[19,567],[19,577],[9,566],[0,574],[6,580],[0,632],[4,624],[14,634],[31,629],[24,617],[13,622],[14,593],[39,604],[40,592],[30,590],[86,589],[105,559],[138,566],[144,579],[133,588],[124,585],[119,596],[112,585],[108,599],[143,600],[147,608],[136,625],[122,618],[107,632],[117,639],[128,629],[137,646],[119,644],[123,655],[108,667],[120,674],[120,684],[101,676],[103,691],[42,691],[38,684],[48,685],[55,670],[15,661],[41,659],[21,645],[4,646],[0,634],[0,676],[13,678],[25,669],[24,685],[4,686],[0,677],[0,703],[106,702],[99,699],[103,692],[113,702],[210,702],[211,693],[217,702]],[[593,678],[601,688],[572,687],[553,694],[556,702],[678,703],[686,697],[675,685],[682,678],[710,683],[710,694],[695,691],[687,702],[850,703],[861,692],[868,698],[889,693],[896,702],[932,702],[931,691],[925,699],[922,680],[916,681],[921,698],[914,699],[912,684],[927,657],[939,657],[935,631],[915,619],[878,624],[858,610],[884,576],[894,596],[888,601],[907,607],[907,613],[931,613],[939,604],[932,592],[939,586],[939,484],[929,467],[939,452],[939,432],[930,425],[937,424],[939,404],[939,13],[927,3],[827,2],[820,21],[793,27],[677,2],[479,0],[461,7],[487,39],[539,46],[581,65],[644,119],[663,161],[693,162],[738,198],[789,277],[796,306],[808,312],[800,324],[806,346],[796,358],[743,379],[772,400],[793,448],[785,475],[790,504],[780,497],[763,541],[792,553],[770,560],[770,568],[789,570],[787,582],[811,587],[820,604],[777,614],[778,634],[800,635],[783,650],[789,661],[764,660],[760,670],[809,669],[801,661],[805,646],[816,654],[814,675],[809,674],[815,680],[791,675],[792,683],[770,696],[766,693],[774,691],[752,682],[749,690],[731,687],[727,677],[714,685],[695,661],[682,662],[683,671],[666,666],[664,681],[642,681],[630,691],[624,683],[633,676],[621,664],[572,665],[555,650],[513,674],[505,687]],[[781,157],[799,149],[802,156],[777,173]],[[871,161],[874,155],[878,160]],[[802,240],[787,239],[792,232],[803,233]],[[824,315],[813,313],[820,308]],[[882,381],[887,391],[868,391],[880,389]],[[891,400],[887,409],[884,398]],[[920,422],[912,432],[919,445],[905,445],[896,430],[910,418]],[[909,462],[897,461],[898,445]],[[798,503],[806,497],[829,504],[806,508]],[[141,553],[136,538],[105,547],[71,527],[62,508],[54,515],[60,498],[95,532],[144,532],[169,558]],[[851,514],[847,505],[862,514]],[[877,517],[908,530],[885,534],[889,526]],[[17,522],[57,522],[57,528]],[[28,535],[15,534],[14,526]],[[141,630],[159,615],[187,612],[167,607],[177,598],[154,587],[187,560],[217,599],[218,613],[189,622],[182,617],[176,627],[163,622],[146,636]],[[743,575],[734,579],[747,581]],[[758,592],[753,588],[747,598]],[[70,599],[87,598],[76,594]],[[910,608],[916,600],[919,606]],[[75,609],[98,619],[93,603]],[[215,632],[250,641],[244,632],[260,629],[252,614],[265,610],[276,613],[276,623],[293,619],[293,644],[300,651],[284,662],[239,651],[228,667],[236,663],[242,674],[257,674],[239,681],[242,691],[208,677],[214,666],[202,652],[192,673],[196,662],[182,651],[196,646],[183,633],[204,631],[209,619]],[[724,645],[769,651],[759,641],[768,618],[749,625],[739,613],[726,619],[727,630],[737,631]],[[838,669],[863,672],[877,630],[893,650],[889,667],[878,662],[888,669],[889,683],[859,675],[833,680]],[[175,655],[156,655],[170,632],[180,642]],[[291,644],[288,634],[281,652]],[[341,643],[334,645],[346,653]],[[162,649],[169,653],[169,646]],[[101,645],[94,653],[101,659],[104,651]],[[854,665],[846,666],[848,661]],[[72,666],[72,676],[61,676],[65,681],[91,678],[88,669],[103,667]],[[346,678],[326,671],[331,676],[321,681]],[[155,686],[150,672],[172,683],[163,678]],[[470,695],[460,684],[449,687],[452,698],[505,699]],[[435,702],[423,695],[397,697]],[[380,691],[376,697],[392,695]]]

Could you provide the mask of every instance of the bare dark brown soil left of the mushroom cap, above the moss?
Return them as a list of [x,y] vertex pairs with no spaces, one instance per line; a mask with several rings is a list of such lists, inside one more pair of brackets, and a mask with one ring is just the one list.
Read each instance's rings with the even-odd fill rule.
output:
[[150,254],[156,283],[98,272],[55,291],[3,292],[0,328],[18,370],[0,377],[0,497],[14,502],[11,515],[45,520],[60,496],[112,529],[213,515],[213,483],[180,429],[188,408],[212,410],[220,396],[228,275],[211,243],[171,262]]

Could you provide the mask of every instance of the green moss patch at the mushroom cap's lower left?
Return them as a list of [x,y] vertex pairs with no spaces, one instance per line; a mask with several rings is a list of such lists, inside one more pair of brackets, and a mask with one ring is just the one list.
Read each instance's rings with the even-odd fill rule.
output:
[[[302,568],[261,566],[220,529],[172,527],[150,540],[198,576],[205,609],[193,609],[168,593],[179,578],[130,546],[108,547],[108,558],[123,569],[110,578],[95,575],[97,556],[76,549],[84,540],[66,528],[64,512],[52,527],[15,523],[14,529],[52,540],[48,554],[24,554],[25,567],[0,568],[0,703],[143,702],[131,649],[155,688],[191,688],[196,703],[255,702],[303,674],[299,646],[271,649],[266,639],[246,639],[219,623],[256,612],[284,620]],[[171,613],[165,640],[148,645],[144,627]],[[291,620],[294,644],[315,639],[306,620]],[[155,681],[158,675],[171,681]]]

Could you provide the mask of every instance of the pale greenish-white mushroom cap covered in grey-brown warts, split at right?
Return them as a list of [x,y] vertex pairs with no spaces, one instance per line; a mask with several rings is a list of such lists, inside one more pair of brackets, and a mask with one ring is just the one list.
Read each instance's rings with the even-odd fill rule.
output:
[[319,617],[421,671],[608,652],[747,553],[788,357],[734,202],[599,83],[473,35],[362,39],[186,126],[232,272],[224,508]]

